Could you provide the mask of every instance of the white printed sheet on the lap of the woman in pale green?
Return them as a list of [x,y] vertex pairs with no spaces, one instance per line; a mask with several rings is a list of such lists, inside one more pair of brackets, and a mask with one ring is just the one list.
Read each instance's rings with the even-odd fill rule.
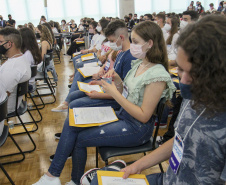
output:
[[104,123],[116,120],[111,107],[73,108],[75,124]]

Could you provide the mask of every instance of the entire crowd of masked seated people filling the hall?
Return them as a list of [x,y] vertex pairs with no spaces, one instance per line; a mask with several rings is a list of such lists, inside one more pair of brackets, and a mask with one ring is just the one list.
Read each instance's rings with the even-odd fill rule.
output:
[[[179,161],[180,167],[173,166],[170,161],[165,174],[147,177],[150,184],[223,185],[226,181],[226,138],[221,133],[226,131],[223,124],[226,65],[223,62],[225,52],[222,51],[226,43],[221,38],[226,29],[225,9],[226,2],[221,2],[217,10],[211,3],[210,10],[205,12],[201,2],[197,1],[196,6],[191,2],[181,14],[162,11],[139,17],[129,13],[124,19],[102,17],[98,22],[85,17],[79,24],[73,19],[69,22],[62,19],[61,25],[47,22],[42,16],[36,28],[28,23],[19,25],[19,31],[14,28],[0,30],[0,54],[8,58],[0,67],[0,91],[4,92],[0,94],[0,102],[6,94],[9,96],[9,112],[15,109],[18,83],[30,80],[30,88],[35,88],[34,78],[30,79],[30,66],[38,65],[38,69],[42,69],[44,55],[53,52],[53,46],[57,44],[55,35],[71,32],[67,54],[74,64],[72,84],[65,101],[52,111],[111,106],[119,118],[102,127],[79,128],[69,126],[68,114],[62,132],[55,135],[60,140],[56,153],[50,156],[49,170],[35,185],[60,185],[59,177],[68,157],[72,157],[72,173],[67,184],[85,184],[80,179],[86,165],[86,147],[133,147],[147,142],[157,119],[155,108],[163,97],[167,106],[162,120],[158,120],[160,126],[167,126],[171,110],[173,119],[168,132],[159,141],[161,147],[131,166],[126,167],[121,161],[124,168],[119,169],[125,172],[124,178],[169,159],[175,152],[172,149],[176,142],[174,138],[181,137],[183,158]],[[85,41],[87,32],[90,47],[82,49],[84,44],[77,41]],[[41,50],[36,39],[41,41]],[[76,52],[81,53],[73,56]],[[81,62],[81,57],[89,53],[94,54],[94,59]],[[92,77],[85,78],[77,71],[84,64],[94,62],[101,68]],[[169,68],[177,66],[179,81],[175,74],[169,73]],[[12,67],[14,72],[9,75]],[[58,81],[53,60],[47,70],[52,72],[54,81]],[[113,82],[106,83],[102,78],[112,78]],[[105,93],[82,92],[78,81],[100,85]],[[181,92],[179,96],[176,89]],[[0,123],[0,134],[2,125]],[[204,153],[207,150],[216,154],[215,157]],[[207,167],[214,175],[205,170]],[[103,170],[112,170],[111,165]],[[92,173],[95,174],[96,170]],[[187,174],[195,178],[188,178]],[[98,184],[96,177],[91,184]]]

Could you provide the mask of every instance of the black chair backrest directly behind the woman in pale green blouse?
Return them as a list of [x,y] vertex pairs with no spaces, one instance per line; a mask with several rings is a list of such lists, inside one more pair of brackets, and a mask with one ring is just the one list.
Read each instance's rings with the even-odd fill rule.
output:
[[156,114],[158,116],[158,123],[157,123],[157,126],[155,128],[155,133],[154,133],[154,137],[153,137],[153,149],[155,148],[155,142],[156,142],[156,138],[157,138],[158,131],[159,131],[159,124],[160,124],[161,119],[162,119],[162,113],[163,113],[165,104],[166,104],[166,98],[161,98],[157,107],[156,107]]

